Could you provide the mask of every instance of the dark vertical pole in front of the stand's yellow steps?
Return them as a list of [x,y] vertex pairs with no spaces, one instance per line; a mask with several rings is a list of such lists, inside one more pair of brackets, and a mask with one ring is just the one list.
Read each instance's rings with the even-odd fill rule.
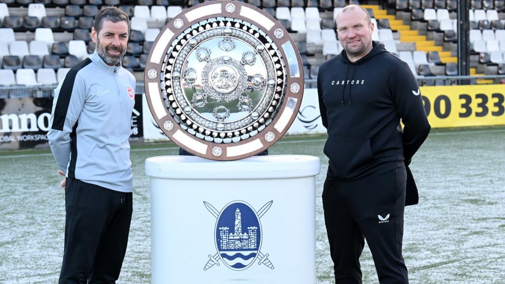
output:
[[[458,0],[458,75],[470,75],[470,0]],[[469,80],[459,80],[459,84],[469,84]]]

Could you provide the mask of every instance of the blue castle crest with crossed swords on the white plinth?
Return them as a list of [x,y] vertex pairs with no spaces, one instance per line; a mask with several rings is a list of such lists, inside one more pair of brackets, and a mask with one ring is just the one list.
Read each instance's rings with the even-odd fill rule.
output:
[[256,260],[271,269],[274,266],[268,259],[268,254],[261,252],[263,239],[260,218],[270,209],[273,201],[256,211],[244,201],[232,201],[221,211],[204,201],[209,212],[216,217],[214,239],[216,253],[209,255],[209,261],[204,267],[207,270],[219,262],[233,270],[244,270]]

